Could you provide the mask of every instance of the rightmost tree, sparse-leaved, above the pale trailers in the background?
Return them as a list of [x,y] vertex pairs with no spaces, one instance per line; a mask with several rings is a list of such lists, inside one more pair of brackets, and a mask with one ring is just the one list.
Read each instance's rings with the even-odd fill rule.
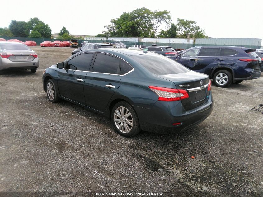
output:
[[188,21],[177,18],[177,37],[178,38],[205,38],[205,32],[203,29],[195,25],[195,21]]

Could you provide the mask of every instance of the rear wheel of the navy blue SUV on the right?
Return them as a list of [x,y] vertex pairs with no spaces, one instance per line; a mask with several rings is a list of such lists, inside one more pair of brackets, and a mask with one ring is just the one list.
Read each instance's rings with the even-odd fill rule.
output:
[[214,84],[218,87],[228,87],[232,83],[232,74],[227,70],[219,70],[214,73]]

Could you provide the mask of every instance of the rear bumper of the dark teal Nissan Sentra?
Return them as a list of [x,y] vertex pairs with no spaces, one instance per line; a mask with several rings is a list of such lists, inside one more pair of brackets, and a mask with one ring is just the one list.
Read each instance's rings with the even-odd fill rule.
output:
[[[176,134],[204,121],[213,110],[213,98],[210,93],[206,103],[192,110],[185,111],[181,101],[157,101],[151,109],[134,106],[142,130]],[[181,123],[173,126],[173,123]]]

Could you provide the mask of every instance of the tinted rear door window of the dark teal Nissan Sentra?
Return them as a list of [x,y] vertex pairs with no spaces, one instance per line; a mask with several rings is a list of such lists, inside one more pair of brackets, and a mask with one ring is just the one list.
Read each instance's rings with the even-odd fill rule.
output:
[[92,72],[120,74],[120,59],[110,55],[97,54]]

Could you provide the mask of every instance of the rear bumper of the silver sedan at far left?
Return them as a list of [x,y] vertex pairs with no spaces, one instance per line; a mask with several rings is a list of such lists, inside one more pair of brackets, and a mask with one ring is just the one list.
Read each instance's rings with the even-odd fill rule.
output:
[[12,62],[9,59],[1,58],[0,59],[0,70],[5,69],[33,69],[38,68],[39,66],[39,59],[35,58],[33,61],[30,62]]

